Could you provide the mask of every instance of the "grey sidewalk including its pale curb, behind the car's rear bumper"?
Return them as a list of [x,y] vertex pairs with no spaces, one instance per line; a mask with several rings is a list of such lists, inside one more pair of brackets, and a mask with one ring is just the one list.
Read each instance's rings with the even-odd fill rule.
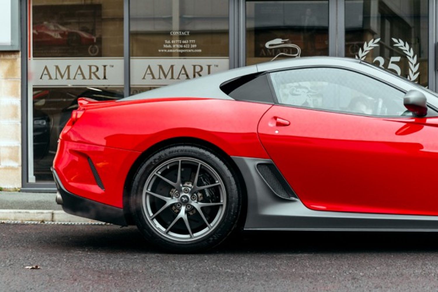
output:
[[99,222],[65,213],[55,197],[55,193],[0,191],[0,221]]

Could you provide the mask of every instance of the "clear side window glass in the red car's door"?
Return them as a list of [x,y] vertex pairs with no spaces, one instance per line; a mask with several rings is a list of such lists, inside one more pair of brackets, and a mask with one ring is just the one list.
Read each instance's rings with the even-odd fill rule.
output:
[[402,91],[340,68],[305,68],[270,73],[280,104],[370,116],[401,116]]

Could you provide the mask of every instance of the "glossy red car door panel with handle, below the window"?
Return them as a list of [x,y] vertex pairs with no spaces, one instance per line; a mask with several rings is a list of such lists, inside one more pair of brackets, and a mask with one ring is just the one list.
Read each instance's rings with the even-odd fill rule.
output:
[[272,106],[258,133],[307,208],[438,215],[438,118]]

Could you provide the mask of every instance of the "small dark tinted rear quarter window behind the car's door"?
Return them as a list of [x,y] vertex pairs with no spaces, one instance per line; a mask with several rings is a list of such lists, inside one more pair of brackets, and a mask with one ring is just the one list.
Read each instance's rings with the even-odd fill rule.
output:
[[242,76],[222,84],[221,89],[236,100],[274,103],[267,74]]

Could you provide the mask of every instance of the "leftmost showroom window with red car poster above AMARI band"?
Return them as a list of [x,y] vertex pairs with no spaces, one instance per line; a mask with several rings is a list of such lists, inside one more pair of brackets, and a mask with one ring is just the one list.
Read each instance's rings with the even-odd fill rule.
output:
[[57,140],[78,98],[123,97],[123,0],[31,0],[29,9],[28,181],[53,181]]

